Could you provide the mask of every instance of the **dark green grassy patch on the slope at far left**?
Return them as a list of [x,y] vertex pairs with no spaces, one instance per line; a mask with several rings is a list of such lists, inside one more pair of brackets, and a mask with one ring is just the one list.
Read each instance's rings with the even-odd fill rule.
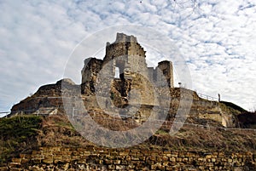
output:
[[37,147],[36,136],[42,118],[35,116],[0,119],[0,163],[9,161],[20,152]]

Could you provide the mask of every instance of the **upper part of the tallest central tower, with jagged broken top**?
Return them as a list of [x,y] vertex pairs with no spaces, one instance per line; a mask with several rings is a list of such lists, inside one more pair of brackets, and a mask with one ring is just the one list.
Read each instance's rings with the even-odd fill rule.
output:
[[117,33],[115,42],[107,43],[103,65],[112,63],[112,68],[109,69],[112,77],[116,71],[119,71],[120,79],[131,79],[132,72],[148,77],[145,54],[146,51],[137,43],[136,37]]

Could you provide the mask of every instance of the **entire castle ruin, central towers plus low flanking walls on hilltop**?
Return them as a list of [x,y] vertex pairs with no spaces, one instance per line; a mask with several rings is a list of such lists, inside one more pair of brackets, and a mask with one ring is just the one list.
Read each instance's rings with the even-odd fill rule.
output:
[[[79,85],[63,79],[42,86],[35,94],[14,105],[9,116],[18,115],[20,111],[24,114],[42,114],[44,111],[45,115],[61,112],[82,116],[80,109],[85,107],[87,111],[106,111],[107,114],[134,118],[137,123],[147,121],[152,113],[159,117],[167,112],[163,119],[171,121],[176,117],[180,101],[192,94],[189,122],[205,124],[210,119],[224,127],[236,127],[237,124],[236,115],[240,111],[217,101],[203,100],[192,90],[174,88],[171,61],[160,61],[155,68],[148,67],[146,51],[134,36],[117,33],[116,40],[107,43],[103,60],[85,59],[81,74]],[[74,94],[78,101],[73,99]],[[63,111],[65,101],[62,100],[71,100],[65,105],[69,111]]]

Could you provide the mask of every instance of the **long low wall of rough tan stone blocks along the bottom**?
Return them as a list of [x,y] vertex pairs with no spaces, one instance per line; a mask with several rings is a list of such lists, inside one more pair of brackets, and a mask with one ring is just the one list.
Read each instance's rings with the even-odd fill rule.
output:
[[41,147],[13,158],[0,170],[255,170],[251,152],[170,151],[167,149],[108,149]]

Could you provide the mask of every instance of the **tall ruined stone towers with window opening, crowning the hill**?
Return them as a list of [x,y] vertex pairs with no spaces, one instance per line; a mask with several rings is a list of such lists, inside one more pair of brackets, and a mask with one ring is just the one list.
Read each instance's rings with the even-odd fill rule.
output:
[[[82,93],[88,90],[94,93],[95,88],[100,87],[100,95],[114,97],[115,105],[156,105],[154,83],[160,84],[163,76],[167,87],[173,88],[172,62],[161,61],[154,69],[147,66],[145,58],[146,51],[136,37],[117,33],[115,42],[107,43],[103,60],[84,60]],[[96,83],[97,77],[102,79],[100,85]],[[103,93],[104,88],[109,91]]]

